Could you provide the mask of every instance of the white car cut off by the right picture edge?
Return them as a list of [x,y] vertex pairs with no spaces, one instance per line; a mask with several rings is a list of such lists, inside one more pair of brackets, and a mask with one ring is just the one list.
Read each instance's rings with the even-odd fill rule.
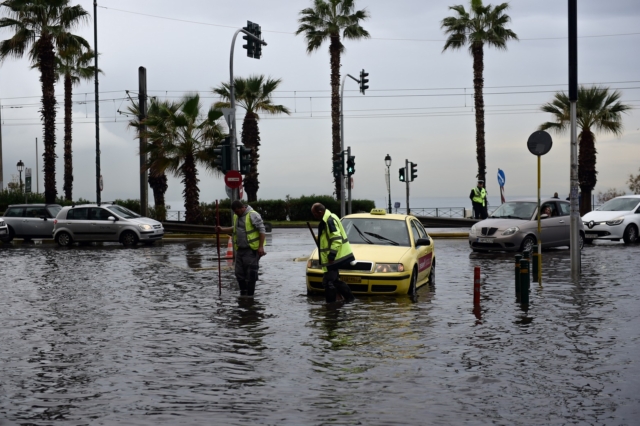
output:
[[612,198],[600,208],[582,216],[585,240],[612,240],[626,243],[640,241],[640,195],[624,195]]

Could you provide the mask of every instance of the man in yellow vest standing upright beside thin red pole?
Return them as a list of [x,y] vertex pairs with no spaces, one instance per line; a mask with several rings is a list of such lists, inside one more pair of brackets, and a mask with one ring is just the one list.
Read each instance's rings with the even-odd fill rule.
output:
[[242,201],[231,203],[233,226],[218,226],[218,232],[233,235],[233,248],[236,252],[235,273],[240,287],[240,296],[253,297],[258,281],[258,261],[264,256],[266,239],[264,222],[258,212]]

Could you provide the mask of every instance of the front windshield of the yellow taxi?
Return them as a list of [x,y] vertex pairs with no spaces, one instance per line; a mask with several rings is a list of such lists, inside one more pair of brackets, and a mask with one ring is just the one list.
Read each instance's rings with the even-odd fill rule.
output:
[[351,244],[404,247],[411,244],[404,220],[345,218],[342,226]]

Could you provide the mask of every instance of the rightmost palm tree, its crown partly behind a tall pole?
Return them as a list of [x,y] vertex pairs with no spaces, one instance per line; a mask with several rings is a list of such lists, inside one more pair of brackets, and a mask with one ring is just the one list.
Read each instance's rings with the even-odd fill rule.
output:
[[[580,215],[591,211],[591,192],[596,186],[596,136],[592,129],[600,132],[622,134],[622,113],[631,109],[630,105],[619,102],[620,92],[609,92],[608,87],[580,87],[576,102],[576,125],[581,131],[578,135],[578,182],[582,192]],[[542,123],[540,130],[553,129],[562,133],[571,124],[571,102],[566,93],[555,94],[555,99],[540,107],[544,112],[554,115],[555,121]]]

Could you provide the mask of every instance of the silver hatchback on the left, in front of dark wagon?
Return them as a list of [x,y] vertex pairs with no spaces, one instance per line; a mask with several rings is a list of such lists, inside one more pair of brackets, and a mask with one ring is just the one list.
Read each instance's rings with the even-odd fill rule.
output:
[[63,207],[53,227],[53,238],[60,246],[70,246],[74,241],[115,241],[135,246],[139,241],[153,244],[163,236],[160,222],[116,204]]

